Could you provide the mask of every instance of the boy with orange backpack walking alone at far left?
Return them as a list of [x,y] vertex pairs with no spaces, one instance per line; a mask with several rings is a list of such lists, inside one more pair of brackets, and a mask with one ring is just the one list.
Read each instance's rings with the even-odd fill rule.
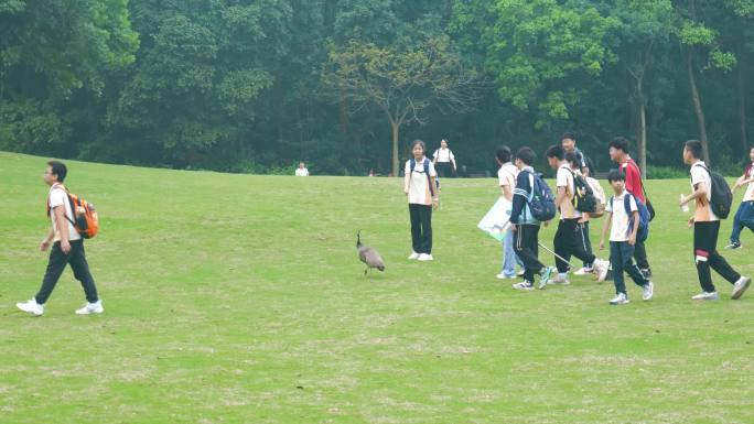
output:
[[91,238],[97,233],[97,213],[91,204],[68,193],[63,185],[66,174],[67,168],[62,162],[47,162],[44,182],[50,186],[47,216],[52,220],[52,228],[40,244],[40,250],[46,251],[52,243],[47,271],[39,293],[28,302],[15,304],[19,309],[34,316],[44,314],[44,305],[66,264],[71,264],[74,276],[82,283],[86,294],[87,303],[76,309],[76,314],[105,312],[84,252],[84,238]]

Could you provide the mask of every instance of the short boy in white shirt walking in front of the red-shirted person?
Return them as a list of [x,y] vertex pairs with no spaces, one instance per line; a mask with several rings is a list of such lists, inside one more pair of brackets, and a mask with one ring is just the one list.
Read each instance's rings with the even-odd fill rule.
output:
[[624,271],[631,275],[636,285],[642,287],[642,298],[648,301],[654,294],[655,285],[642,274],[638,265],[634,263],[634,250],[636,249],[639,227],[636,196],[626,191],[626,175],[621,171],[611,171],[607,175],[607,182],[613,187],[615,195],[605,207],[605,224],[602,228],[600,250],[605,249],[605,236],[610,229],[610,263],[613,267],[613,282],[615,283],[615,297],[610,301],[610,304],[624,305],[629,302],[623,279]]

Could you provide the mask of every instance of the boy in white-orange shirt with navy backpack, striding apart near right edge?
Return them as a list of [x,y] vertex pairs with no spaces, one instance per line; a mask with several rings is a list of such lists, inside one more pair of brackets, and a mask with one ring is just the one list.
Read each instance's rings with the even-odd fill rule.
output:
[[694,301],[717,301],[720,298],[712,284],[710,268],[723,279],[733,284],[731,297],[737,300],[743,296],[752,279],[741,275],[733,270],[725,258],[718,253],[718,235],[720,233],[720,218],[714,215],[710,200],[712,199],[712,175],[702,162],[702,144],[698,140],[689,140],[683,146],[683,162],[691,166],[691,187],[693,193],[680,200],[681,207],[694,202],[693,216],[689,219],[689,227],[693,227],[693,256],[697,262],[697,273],[702,292],[693,297]]

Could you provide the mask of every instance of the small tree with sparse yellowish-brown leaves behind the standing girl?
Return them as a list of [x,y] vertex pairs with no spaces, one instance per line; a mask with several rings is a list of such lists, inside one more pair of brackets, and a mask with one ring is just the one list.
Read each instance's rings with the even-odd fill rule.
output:
[[401,127],[427,123],[431,106],[468,110],[480,87],[476,74],[465,70],[449,50],[448,39],[428,40],[406,50],[352,41],[330,52],[323,80],[348,100],[352,113],[369,106],[385,113],[392,133],[394,175],[398,175]]

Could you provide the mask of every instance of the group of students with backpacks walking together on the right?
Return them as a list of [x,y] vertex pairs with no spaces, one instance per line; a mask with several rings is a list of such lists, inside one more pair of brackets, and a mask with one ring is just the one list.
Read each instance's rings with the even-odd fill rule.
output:
[[[560,145],[552,145],[547,150],[546,157],[550,167],[556,171],[554,194],[547,187],[541,175],[534,168],[536,154],[530,148],[519,149],[515,156],[507,146],[499,148],[496,159],[500,165],[498,182],[502,196],[511,202],[511,229],[503,242],[503,270],[497,276],[509,279],[520,275],[524,281],[513,285],[516,290],[530,291],[535,289],[535,279],[539,276],[539,289],[548,284],[570,284],[568,273],[571,271],[570,260],[575,257],[583,261],[584,268],[575,274],[594,273],[602,282],[612,275],[615,285],[615,297],[610,303],[622,305],[629,303],[624,281],[624,272],[642,287],[642,298],[651,300],[654,283],[651,270],[647,260],[645,239],[648,233],[648,221],[654,211],[646,197],[642,183],[642,174],[637,164],[629,155],[629,144],[624,138],[616,138],[608,146],[610,157],[617,165],[607,175],[607,182],[613,195],[607,198],[596,180],[590,175],[591,161],[575,148],[575,137],[566,133]],[[702,293],[693,300],[718,300],[719,294],[712,284],[711,271],[715,270],[733,284],[732,298],[740,298],[751,284],[751,279],[734,271],[725,259],[717,251],[720,219],[712,210],[712,174],[700,160],[702,146],[699,141],[687,141],[683,146],[683,160],[691,166],[691,185],[693,193],[680,200],[680,206],[694,202],[696,210],[689,220],[694,228],[694,260]],[[754,231],[751,219],[754,210],[754,149],[752,149],[753,164],[736,183],[736,188],[748,184],[750,188],[744,197],[744,204],[736,214],[734,235],[731,247],[740,247],[737,237],[743,227]],[[584,192],[589,192],[591,202]],[[541,207],[548,202],[553,204],[551,216]],[[602,206],[601,206],[602,205]],[[560,214],[558,229],[553,240],[556,267],[547,267],[539,260],[540,226],[548,225],[554,216]],[[742,213],[743,210],[743,213]],[[591,248],[589,237],[590,218],[605,216],[601,233],[600,249],[605,248],[605,239],[610,242],[610,260],[599,259]],[[521,265],[524,272],[516,274],[516,264]]]

